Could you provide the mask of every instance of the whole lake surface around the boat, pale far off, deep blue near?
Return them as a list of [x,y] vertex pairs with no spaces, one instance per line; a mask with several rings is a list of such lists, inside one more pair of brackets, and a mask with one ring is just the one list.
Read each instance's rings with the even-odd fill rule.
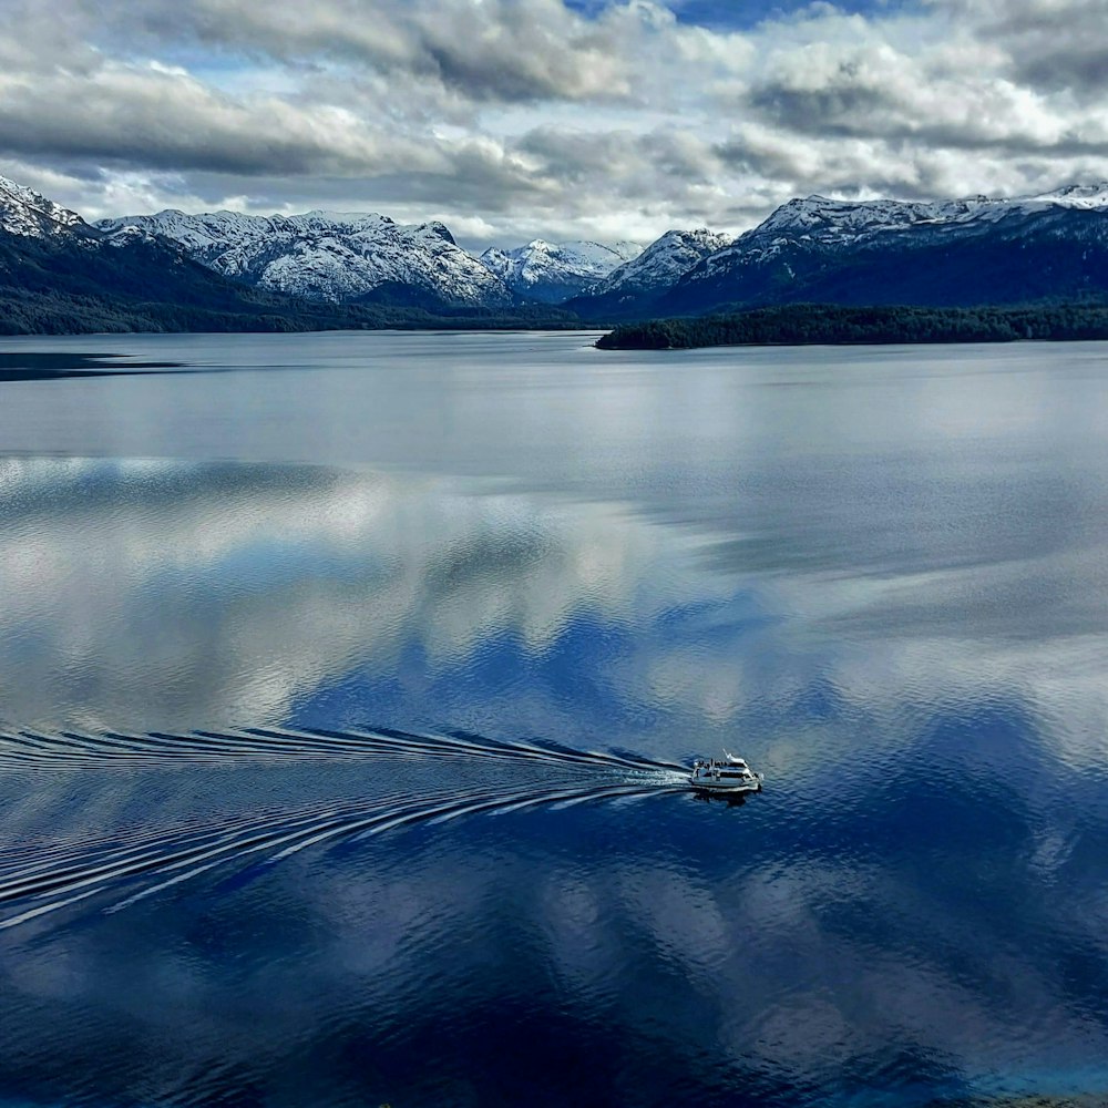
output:
[[10,349],[0,1105],[1104,1099],[1108,348]]

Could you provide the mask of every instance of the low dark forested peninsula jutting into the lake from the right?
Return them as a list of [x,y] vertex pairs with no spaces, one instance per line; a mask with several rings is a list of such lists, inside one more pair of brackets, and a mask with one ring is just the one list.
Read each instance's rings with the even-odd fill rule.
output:
[[725,315],[625,324],[601,350],[691,350],[717,346],[869,346],[1108,339],[1108,305],[922,308],[791,304]]

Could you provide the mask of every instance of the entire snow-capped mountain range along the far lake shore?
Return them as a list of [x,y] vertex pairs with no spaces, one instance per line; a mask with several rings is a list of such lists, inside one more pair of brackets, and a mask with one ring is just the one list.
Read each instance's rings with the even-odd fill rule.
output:
[[[620,252],[629,256],[616,265]],[[526,271],[532,287],[547,281],[547,296],[582,284],[564,311],[526,307],[540,298],[490,260],[506,263],[505,276]],[[483,263],[437,220],[165,209],[89,224],[0,177],[0,299],[9,330],[587,326],[798,302],[1099,302],[1108,182],[1010,198],[817,194],[733,239],[706,228],[667,232],[644,250],[535,239],[486,250]]]

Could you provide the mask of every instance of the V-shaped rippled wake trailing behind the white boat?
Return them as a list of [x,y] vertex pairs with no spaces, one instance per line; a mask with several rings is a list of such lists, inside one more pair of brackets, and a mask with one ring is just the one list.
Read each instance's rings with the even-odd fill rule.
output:
[[[0,855],[0,931],[79,905],[119,912],[203,874],[265,869],[301,851],[361,841],[414,823],[544,806],[646,799],[684,791],[688,782],[687,770],[677,762],[468,735],[257,728],[189,735],[21,731],[0,736],[0,767],[47,770],[312,758],[506,760],[520,767],[544,767],[544,780],[525,788],[469,783],[418,797],[410,791],[393,792],[295,811],[255,810],[174,828],[127,829],[101,839],[82,835],[13,845]],[[552,768],[565,771],[556,783],[550,780]]]

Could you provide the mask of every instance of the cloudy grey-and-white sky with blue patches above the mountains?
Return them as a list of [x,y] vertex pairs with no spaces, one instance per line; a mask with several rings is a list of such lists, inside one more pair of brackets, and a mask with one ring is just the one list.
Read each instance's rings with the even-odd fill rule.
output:
[[1108,178],[1108,0],[0,0],[0,174],[472,249],[1036,193]]

